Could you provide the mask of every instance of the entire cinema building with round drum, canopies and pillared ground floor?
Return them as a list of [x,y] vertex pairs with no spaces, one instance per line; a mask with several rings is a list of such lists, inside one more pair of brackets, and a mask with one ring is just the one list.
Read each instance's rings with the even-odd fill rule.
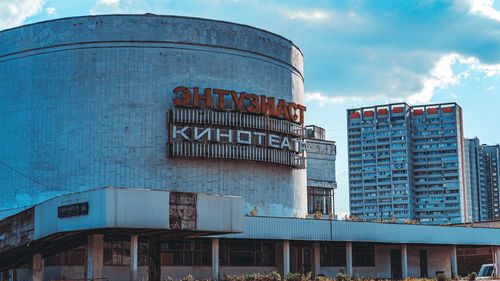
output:
[[448,276],[500,230],[335,220],[303,55],[257,28],[109,15],[0,32],[0,280]]

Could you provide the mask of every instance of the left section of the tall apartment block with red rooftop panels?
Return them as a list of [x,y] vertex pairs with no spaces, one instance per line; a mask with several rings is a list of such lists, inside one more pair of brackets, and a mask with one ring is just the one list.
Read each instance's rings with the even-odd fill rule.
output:
[[414,216],[409,112],[406,104],[348,110],[351,215]]

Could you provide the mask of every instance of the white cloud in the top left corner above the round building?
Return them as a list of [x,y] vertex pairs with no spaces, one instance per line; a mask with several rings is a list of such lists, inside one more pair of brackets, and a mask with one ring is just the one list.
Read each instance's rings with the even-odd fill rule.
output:
[[0,0],[0,30],[22,25],[42,10],[42,0]]

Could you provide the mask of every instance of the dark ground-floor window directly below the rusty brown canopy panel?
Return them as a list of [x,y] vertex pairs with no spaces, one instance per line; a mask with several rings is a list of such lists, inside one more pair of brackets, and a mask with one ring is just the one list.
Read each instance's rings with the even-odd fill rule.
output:
[[210,240],[177,240],[161,245],[162,265],[211,265],[212,243]]

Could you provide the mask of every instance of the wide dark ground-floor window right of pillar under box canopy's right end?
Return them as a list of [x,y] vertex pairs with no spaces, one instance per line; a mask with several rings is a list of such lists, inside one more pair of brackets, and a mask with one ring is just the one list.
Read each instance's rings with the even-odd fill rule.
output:
[[276,266],[276,243],[274,241],[221,240],[220,264]]

